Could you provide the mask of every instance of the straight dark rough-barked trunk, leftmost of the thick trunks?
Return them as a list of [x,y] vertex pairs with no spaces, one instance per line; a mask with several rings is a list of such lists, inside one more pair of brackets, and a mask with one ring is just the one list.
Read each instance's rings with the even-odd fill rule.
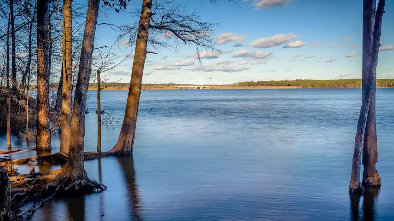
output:
[[48,83],[48,0],[37,0],[37,136],[36,149],[50,149]]

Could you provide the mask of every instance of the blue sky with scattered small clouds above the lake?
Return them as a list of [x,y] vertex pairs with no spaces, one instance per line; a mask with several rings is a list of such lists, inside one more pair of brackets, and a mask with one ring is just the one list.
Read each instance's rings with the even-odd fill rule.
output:
[[[142,1],[131,2],[127,11],[141,8]],[[202,52],[204,71],[195,59],[195,46],[160,48],[158,55],[147,55],[143,83],[361,78],[360,0],[243,0],[238,5],[190,0],[187,9],[198,9],[202,20],[220,24],[213,37],[224,53]],[[381,44],[386,50],[379,53],[377,77],[394,78],[394,2],[387,1],[385,11]],[[100,12],[98,23],[136,19],[124,12]],[[117,34],[98,26],[96,45],[111,45]],[[116,53],[122,58],[133,53],[133,47],[119,45]],[[131,67],[132,58],[105,76],[130,82]]]

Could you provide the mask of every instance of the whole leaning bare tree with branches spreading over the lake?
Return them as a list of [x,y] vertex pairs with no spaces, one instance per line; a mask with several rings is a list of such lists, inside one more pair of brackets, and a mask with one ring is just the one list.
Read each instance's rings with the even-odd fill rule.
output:
[[[147,53],[154,53],[147,50],[148,43],[153,47],[157,45],[173,47],[173,44],[160,41],[158,38],[167,36],[175,39],[176,45],[179,41],[183,44],[194,44],[198,59],[201,49],[220,53],[215,49],[215,42],[212,38],[214,27],[218,24],[203,22],[197,11],[185,13],[187,11],[185,9],[186,5],[180,5],[175,1],[162,3],[154,1],[152,5],[152,0],[143,0],[138,26],[131,24],[122,27],[124,32],[119,35],[118,39],[129,34],[130,42],[136,39],[136,49],[125,117],[117,144],[110,150],[111,153],[130,154],[133,150],[145,58]],[[138,31],[135,32],[137,29]],[[151,29],[153,33],[149,33]]]

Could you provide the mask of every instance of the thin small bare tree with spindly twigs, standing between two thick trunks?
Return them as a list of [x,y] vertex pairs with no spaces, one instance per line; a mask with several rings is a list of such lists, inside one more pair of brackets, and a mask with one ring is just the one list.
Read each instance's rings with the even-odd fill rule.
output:
[[[112,52],[112,48],[108,47],[100,47],[96,49],[96,56],[93,62],[93,66],[96,68],[97,72],[97,152],[101,152],[101,90],[110,86],[105,84],[104,87],[101,86],[101,83],[106,83],[108,79],[101,79],[101,74],[112,70],[113,68],[120,66],[124,61],[126,61],[127,57],[118,61],[119,56],[117,56],[114,52]],[[115,82],[114,82],[115,83]]]

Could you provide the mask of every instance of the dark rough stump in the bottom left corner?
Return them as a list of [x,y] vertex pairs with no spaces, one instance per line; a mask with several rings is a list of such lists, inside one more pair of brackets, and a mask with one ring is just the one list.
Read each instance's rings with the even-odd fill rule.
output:
[[0,169],[0,221],[11,219],[10,201],[11,188],[9,187],[8,174],[6,170]]

